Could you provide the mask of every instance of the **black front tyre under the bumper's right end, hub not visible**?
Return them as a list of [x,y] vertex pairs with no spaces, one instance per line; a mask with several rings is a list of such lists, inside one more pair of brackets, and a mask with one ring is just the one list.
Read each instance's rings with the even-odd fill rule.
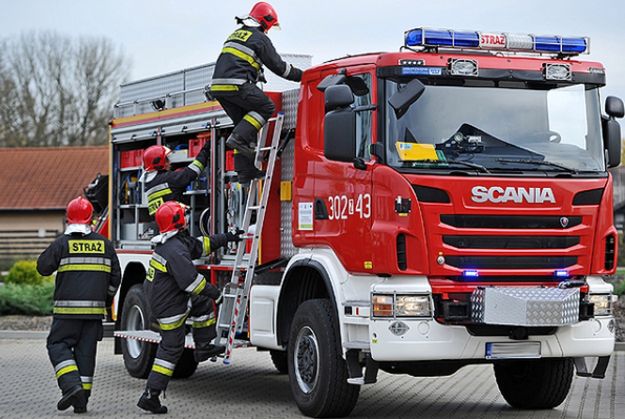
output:
[[552,409],[559,406],[571,388],[573,361],[545,358],[495,364],[499,391],[518,409]]

